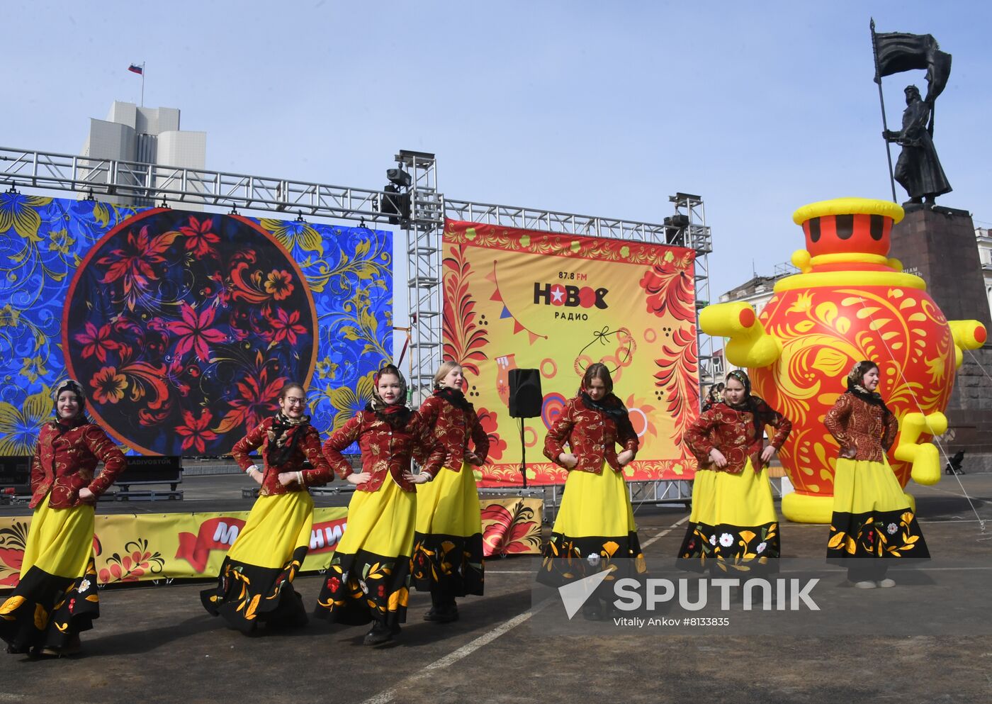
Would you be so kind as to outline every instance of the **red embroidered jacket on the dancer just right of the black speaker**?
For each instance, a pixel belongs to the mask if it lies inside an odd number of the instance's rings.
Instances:
[[[603,462],[614,472],[620,471],[620,463],[617,462],[617,443],[620,443],[624,450],[630,450],[635,455],[640,446],[637,434],[629,424],[625,424],[623,429],[618,429],[616,421],[608,413],[589,408],[582,401],[581,396],[568,399],[555,425],[545,436],[545,457],[558,467],[564,467],[558,461],[558,455],[564,453],[565,442],[578,461],[572,470],[591,472],[595,475],[602,473]]]

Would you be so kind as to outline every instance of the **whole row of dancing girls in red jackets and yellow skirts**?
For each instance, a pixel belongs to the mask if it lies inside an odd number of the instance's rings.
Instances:
[[[907,541],[913,543],[913,557],[929,556],[909,499],[886,462],[898,424],[875,390],[878,382],[877,364],[855,365],[847,392],[824,421],[840,446],[827,557],[845,565],[848,579],[862,589],[895,584],[885,575],[885,563],[860,558],[901,555],[885,549],[897,531],[913,538]],[[279,394],[279,412],[232,450],[260,485],[259,497],[224,559],[217,585],[201,593],[206,611],[245,633],[263,623],[269,629],[307,623],[308,609],[293,582],[310,544],[308,488],[337,474],[355,485],[355,493],[315,615],[346,625],[370,624],[364,642],[383,643],[406,622],[413,586],[431,592],[425,620],[456,620],[456,598],[483,592],[472,468],[485,463],[489,441],[462,394],[458,364],[441,364],[434,389],[420,410],[411,410],[402,373],[392,364],[383,366],[373,400],[321,448],[304,413],[306,390],[287,384]],[[8,652],[70,654],[79,648],[79,634],[99,616],[93,506],[126,462],[86,417],[77,382],[62,382],[54,396],[56,417],[43,426],[32,458],[34,513],[20,582],[0,602],[0,637]],[[766,426],[775,429],[767,447]],[[682,566],[775,569],[779,523],[765,468],[791,428],[787,418],[751,394],[743,371],[732,371],[722,395],[708,400],[683,437],[699,469],[679,551]],[[341,455],[353,442],[361,450],[359,472]],[[261,467],[249,458],[256,449]],[[637,450],[637,434],[613,393],[609,369],[590,364],[545,439],[545,455],[568,477],[539,581],[557,586],[622,566],[634,574],[647,572],[622,472]],[[412,473],[412,459],[421,465],[419,474]],[[310,469],[304,469],[305,462]],[[94,477],[98,463],[103,471]],[[586,618],[599,619],[608,609],[605,585],[586,601]]]

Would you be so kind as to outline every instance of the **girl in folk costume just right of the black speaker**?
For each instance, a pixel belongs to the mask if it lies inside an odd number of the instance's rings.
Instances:
[[[565,452],[564,444],[569,451]],[[616,445],[623,450],[618,454]],[[613,394],[605,364],[589,364],[578,394],[568,399],[545,437],[545,456],[568,470],[552,537],[545,546],[538,581],[557,587],[593,572],[614,573],[605,581],[644,574],[634,511],[621,470],[637,454],[637,433],[623,402]],[[605,584],[583,605],[585,618],[602,616]]]

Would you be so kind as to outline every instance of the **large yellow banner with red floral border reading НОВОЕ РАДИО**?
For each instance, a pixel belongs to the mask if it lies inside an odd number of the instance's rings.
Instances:
[[[541,417],[524,421],[528,481],[564,482],[542,455],[545,434],[595,361],[641,442],[627,479],[692,477],[681,443],[699,408],[691,249],[447,220],[442,256],[444,358],[464,367],[491,441],[482,486],[521,484],[515,368],[541,373]]]

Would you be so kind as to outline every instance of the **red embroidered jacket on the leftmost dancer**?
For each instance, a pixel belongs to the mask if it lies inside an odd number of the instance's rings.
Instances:
[[[69,430],[64,428],[58,421],[50,421],[38,434],[38,448],[31,458],[31,508],[50,491],[50,508],[81,505],[80,489],[85,487],[99,496],[127,466],[124,455],[100,426],[84,423]],[[93,479],[100,462],[103,471]]]

